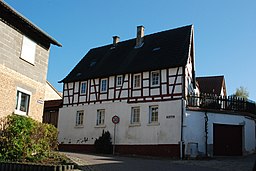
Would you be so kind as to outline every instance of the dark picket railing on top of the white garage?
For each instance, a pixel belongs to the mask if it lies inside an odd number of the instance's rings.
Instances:
[[[212,94],[190,95],[187,98],[187,106],[202,109],[247,112],[256,115],[255,102],[235,96],[226,97]]]

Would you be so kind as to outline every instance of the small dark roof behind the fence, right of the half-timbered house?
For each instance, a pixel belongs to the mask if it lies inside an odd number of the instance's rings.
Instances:
[[[197,77],[201,93],[221,95],[222,87],[226,96],[226,85],[224,76]]]

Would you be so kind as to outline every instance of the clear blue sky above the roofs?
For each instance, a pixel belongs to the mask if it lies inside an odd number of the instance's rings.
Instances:
[[[63,47],[51,47],[48,80],[62,80],[94,47],[193,24],[197,76],[224,75],[228,94],[244,86],[256,100],[255,0],[5,0]]]

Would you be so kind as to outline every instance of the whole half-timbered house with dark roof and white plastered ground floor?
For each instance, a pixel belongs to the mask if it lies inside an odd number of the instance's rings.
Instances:
[[[64,78],[60,147],[89,150],[103,130],[116,152],[179,155],[183,99],[193,91],[193,26],[91,49]]]

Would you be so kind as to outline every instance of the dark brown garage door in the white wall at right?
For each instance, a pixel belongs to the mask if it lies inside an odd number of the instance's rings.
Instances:
[[[242,125],[213,124],[213,154],[242,155]]]

